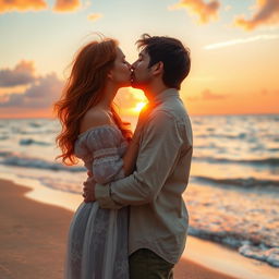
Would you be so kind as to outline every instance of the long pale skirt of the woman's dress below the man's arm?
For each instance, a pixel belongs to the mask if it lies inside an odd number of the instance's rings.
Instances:
[[[65,279],[129,279],[128,215],[128,207],[80,205],[69,230]]]

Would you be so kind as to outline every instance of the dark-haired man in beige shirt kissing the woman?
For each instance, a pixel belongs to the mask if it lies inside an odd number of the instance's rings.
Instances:
[[[169,37],[143,35],[133,63],[132,85],[149,100],[140,126],[135,171],[107,185],[85,182],[85,202],[102,208],[131,205],[130,278],[173,278],[184,246],[187,210],[182,197],[189,182],[193,140],[179,89],[190,72],[190,52]]]

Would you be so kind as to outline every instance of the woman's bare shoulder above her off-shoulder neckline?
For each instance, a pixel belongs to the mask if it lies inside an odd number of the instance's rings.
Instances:
[[[99,108],[89,109],[82,119],[80,133],[84,133],[93,128],[109,124],[111,124],[111,120],[106,111]]]

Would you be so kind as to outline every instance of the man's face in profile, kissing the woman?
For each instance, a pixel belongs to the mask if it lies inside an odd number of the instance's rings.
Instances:
[[[138,59],[132,64],[131,84],[134,88],[145,89],[151,81],[151,71],[148,68],[150,58],[145,50],[138,54]]]

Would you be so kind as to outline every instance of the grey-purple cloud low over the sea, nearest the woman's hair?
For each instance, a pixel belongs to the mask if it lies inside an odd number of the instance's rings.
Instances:
[[[54,73],[38,77],[23,94],[10,93],[0,98],[2,108],[49,108],[61,94],[63,82]]]

